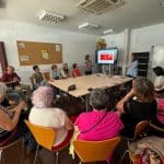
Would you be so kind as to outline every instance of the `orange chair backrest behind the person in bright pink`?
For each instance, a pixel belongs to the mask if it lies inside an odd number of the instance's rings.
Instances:
[[[74,151],[82,162],[105,161],[120,141],[119,137],[104,141],[74,140]]]

